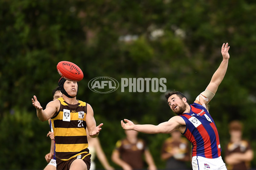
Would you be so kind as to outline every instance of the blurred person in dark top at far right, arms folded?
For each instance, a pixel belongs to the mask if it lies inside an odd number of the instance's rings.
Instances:
[[[230,142],[226,146],[225,161],[228,170],[249,170],[253,159],[250,142],[242,139],[243,125],[235,120],[230,122]]]

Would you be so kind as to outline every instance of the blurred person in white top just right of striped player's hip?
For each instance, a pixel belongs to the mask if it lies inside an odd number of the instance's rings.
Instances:
[[[86,128],[86,133],[89,134],[87,128]],[[92,138],[90,135],[87,136],[88,140],[88,149],[90,150],[91,156],[91,165],[90,165],[90,170],[95,170],[96,169],[96,164],[94,162],[95,156],[99,159],[100,163],[104,167],[105,170],[114,170],[113,167],[108,163],[108,159],[106,158],[105,153],[102,150],[99,138]]]

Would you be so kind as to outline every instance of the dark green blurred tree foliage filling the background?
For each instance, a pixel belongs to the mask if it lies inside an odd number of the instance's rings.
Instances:
[[[164,93],[121,92],[119,87],[97,94],[88,88],[90,79],[108,76],[120,83],[164,77],[168,90],[183,92],[192,103],[218,68],[223,42],[231,46],[230,64],[210,113],[222,148],[232,119],[246,124],[244,137],[253,142],[255,11],[252,0],[0,0],[0,169],[46,165],[48,125],[37,119],[31,98],[36,95],[43,107],[52,100],[59,61],[83,70],[78,98],[92,105],[97,124],[104,123],[99,138],[110,160],[116,141],[125,136],[121,119],[157,125],[174,114]],[[140,137],[157,167],[164,168],[159,149],[168,135]]]

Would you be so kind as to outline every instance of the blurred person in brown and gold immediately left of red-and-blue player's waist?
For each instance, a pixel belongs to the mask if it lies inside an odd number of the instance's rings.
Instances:
[[[186,162],[191,161],[191,144],[181,136],[178,130],[170,133],[161,150],[161,159],[166,160],[166,169],[188,169]]]

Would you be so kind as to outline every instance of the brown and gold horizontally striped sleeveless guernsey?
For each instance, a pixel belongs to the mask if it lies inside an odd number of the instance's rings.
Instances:
[[[90,155],[85,130],[87,104],[79,100],[78,104],[70,105],[62,97],[58,100],[61,103],[60,110],[51,118],[55,137],[55,157],[68,161],[81,153]]]

